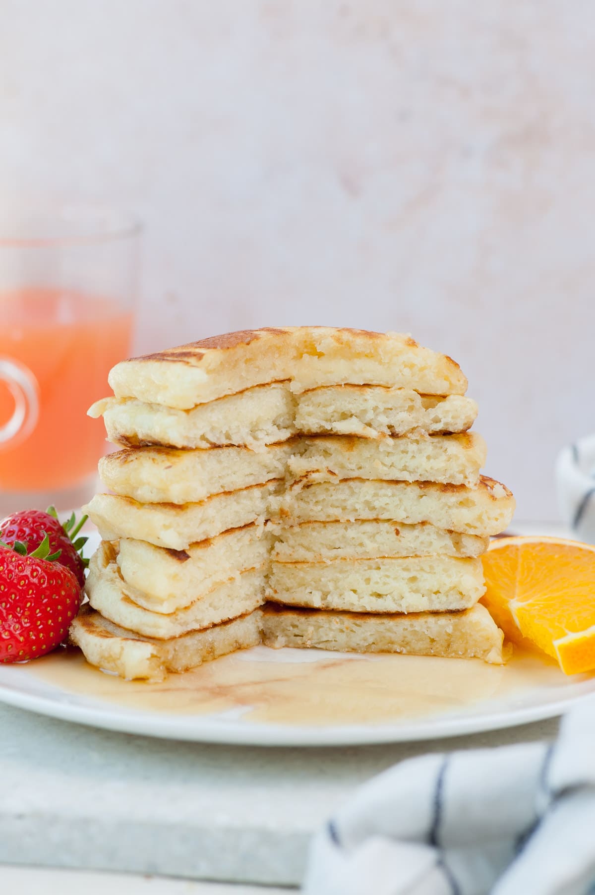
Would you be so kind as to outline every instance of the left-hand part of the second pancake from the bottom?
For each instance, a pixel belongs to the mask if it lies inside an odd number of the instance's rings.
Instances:
[[[164,614],[143,606],[144,595],[126,584],[116,563],[115,550],[104,544],[89,563],[86,592],[91,606],[116,625],[143,636],[167,640],[257,609],[264,602],[264,569],[249,569],[235,575],[209,591],[202,590],[200,599],[182,609]]]

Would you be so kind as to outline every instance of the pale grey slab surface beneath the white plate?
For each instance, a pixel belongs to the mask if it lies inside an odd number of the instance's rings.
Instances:
[[[314,831],[412,755],[553,737],[557,720],[393,746],[169,742],[0,706],[0,863],[298,884]]]

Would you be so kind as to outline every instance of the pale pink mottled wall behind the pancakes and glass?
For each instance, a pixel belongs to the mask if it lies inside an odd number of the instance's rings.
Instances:
[[[138,349],[411,331],[555,518],[595,429],[589,0],[3,0],[0,198],[136,209]]]

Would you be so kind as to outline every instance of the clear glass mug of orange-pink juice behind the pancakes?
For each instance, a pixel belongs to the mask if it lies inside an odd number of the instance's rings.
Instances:
[[[105,209],[0,217],[0,515],[78,507],[102,427],[86,415],[130,352],[140,225]]]

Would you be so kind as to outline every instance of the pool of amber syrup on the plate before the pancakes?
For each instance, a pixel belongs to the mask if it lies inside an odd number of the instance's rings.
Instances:
[[[357,655],[256,647],[149,684],[90,666],[60,650],[22,666],[44,684],[136,712],[217,715],[292,726],[422,720],[510,700],[532,688],[562,691],[567,678],[548,657],[516,651],[506,665],[381,653]]]

